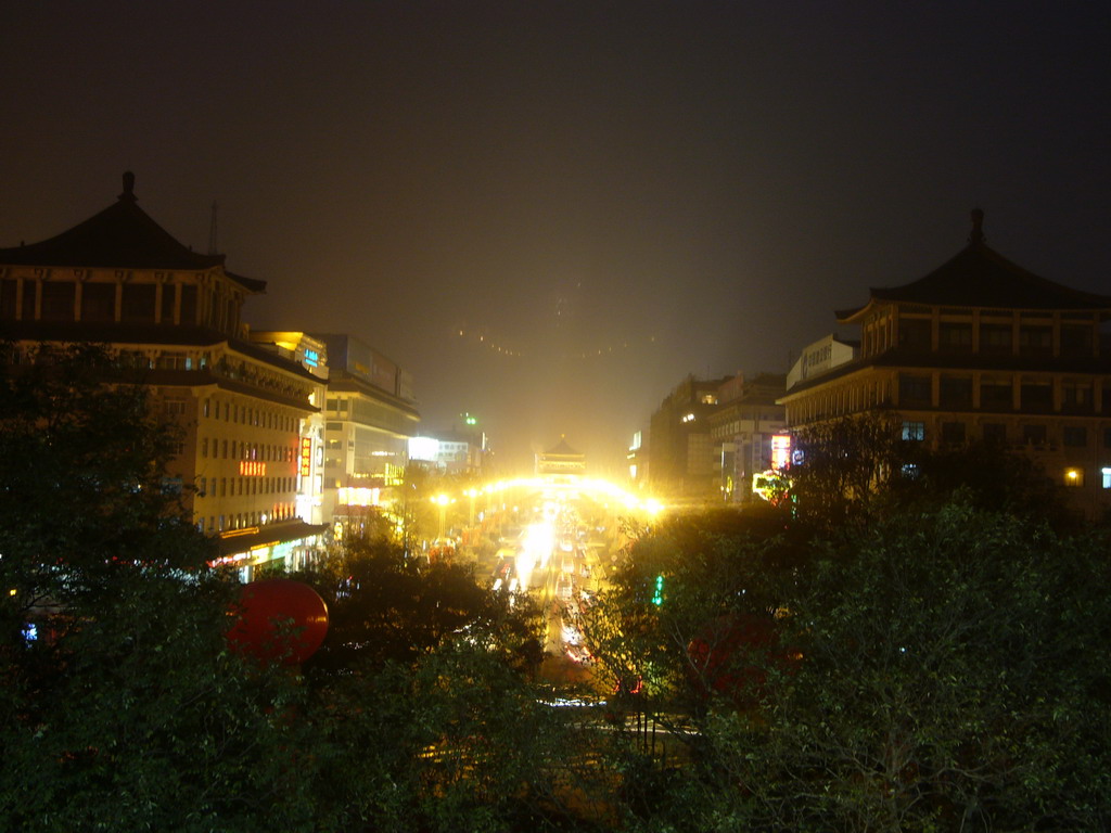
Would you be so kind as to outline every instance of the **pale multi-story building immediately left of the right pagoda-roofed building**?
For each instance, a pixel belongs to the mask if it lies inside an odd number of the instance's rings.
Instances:
[[[718,389],[719,408],[707,421],[720,459],[719,489],[727,503],[752,499],[752,478],[772,465],[772,438],[787,428],[777,400],[787,389],[782,373],[738,373]]]

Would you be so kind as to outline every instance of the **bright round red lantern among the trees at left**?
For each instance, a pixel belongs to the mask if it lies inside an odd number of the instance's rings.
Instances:
[[[263,662],[299,665],[328,633],[324,600],[308,584],[290,579],[244,584],[236,613],[239,619],[228,631],[228,644]]]

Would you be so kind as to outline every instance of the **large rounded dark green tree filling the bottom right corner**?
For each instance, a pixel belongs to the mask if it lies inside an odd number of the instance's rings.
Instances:
[[[722,714],[715,770],[779,830],[1102,830],[1105,541],[967,500],[893,518],[805,576],[801,660]],[[720,783],[720,781],[719,781]]]

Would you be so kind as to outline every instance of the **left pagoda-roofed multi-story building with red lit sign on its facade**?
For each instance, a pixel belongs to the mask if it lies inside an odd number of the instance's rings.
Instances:
[[[186,505],[248,573],[271,559],[303,562],[323,532],[298,514],[319,379],[248,339],[242,307],[264,289],[154,222],[130,173],[116,203],[84,222],[0,249],[0,338],[24,354],[104,343],[140,369],[153,407],[183,430],[171,474],[196,486]]]

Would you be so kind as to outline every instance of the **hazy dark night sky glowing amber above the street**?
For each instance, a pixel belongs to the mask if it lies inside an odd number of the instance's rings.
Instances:
[[[507,463],[565,433],[615,465],[685,374],[785,372],[973,207],[1111,291],[1105,9],[8,2],[0,247],[133,170],[196,249],[219,203],[256,328],[362,338]]]

